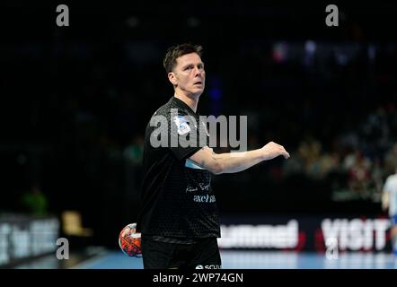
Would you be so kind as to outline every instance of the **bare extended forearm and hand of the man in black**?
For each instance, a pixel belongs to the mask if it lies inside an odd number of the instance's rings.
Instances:
[[[214,174],[234,173],[251,168],[260,161],[269,161],[278,155],[289,158],[289,153],[282,145],[270,142],[260,149],[250,152],[227,152],[217,154],[205,146],[190,157],[203,169]]]

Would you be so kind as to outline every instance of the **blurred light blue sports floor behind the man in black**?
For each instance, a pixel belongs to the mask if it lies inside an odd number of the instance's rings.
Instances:
[[[328,259],[317,253],[222,250],[221,257],[223,269],[397,269],[397,257],[380,253],[340,253],[337,259]],[[72,268],[142,269],[143,265],[142,258],[110,251]]]

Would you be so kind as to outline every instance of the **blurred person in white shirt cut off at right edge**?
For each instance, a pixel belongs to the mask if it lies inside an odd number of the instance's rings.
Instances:
[[[397,167],[395,173],[386,178],[383,188],[382,208],[389,210],[392,223],[391,238],[393,254],[397,256]]]

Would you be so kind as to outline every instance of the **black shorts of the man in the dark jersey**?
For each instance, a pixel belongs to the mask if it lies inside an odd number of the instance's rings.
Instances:
[[[142,238],[145,269],[219,269],[221,257],[216,238],[199,239],[198,243],[166,243]]]

